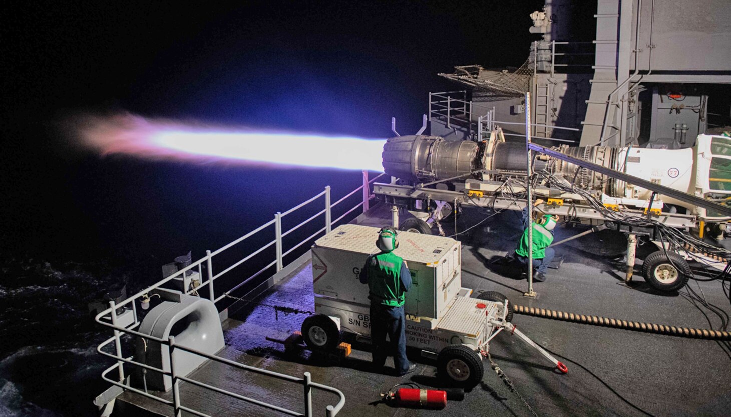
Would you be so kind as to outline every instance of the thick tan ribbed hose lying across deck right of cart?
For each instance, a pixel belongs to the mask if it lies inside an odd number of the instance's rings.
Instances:
[[[591,326],[611,327],[613,329],[632,330],[633,332],[664,334],[666,336],[689,337],[692,339],[731,340],[731,333],[719,332],[717,330],[689,329],[687,327],[665,326],[664,324],[639,323],[637,321],[617,320],[615,318],[597,317],[596,315],[564,313],[562,311],[525,307],[523,305],[513,305],[512,310],[515,313],[532,315],[533,317],[550,318],[551,320],[568,321],[569,323],[588,324]]]

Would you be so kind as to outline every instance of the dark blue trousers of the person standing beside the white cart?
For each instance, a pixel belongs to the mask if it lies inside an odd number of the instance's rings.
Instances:
[[[371,304],[371,343],[374,367],[383,367],[386,356],[393,356],[397,374],[409,370],[406,359],[406,318],[404,307]],[[390,343],[386,342],[386,334]]]

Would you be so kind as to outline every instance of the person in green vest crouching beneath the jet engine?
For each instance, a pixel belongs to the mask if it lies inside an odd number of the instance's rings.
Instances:
[[[542,199],[537,199],[534,207],[543,204]],[[523,236],[520,237],[518,242],[518,249],[515,250],[515,255],[518,256],[518,261],[523,264],[523,267],[528,269],[528,207],[523,209]],[[553,256],[556,253],[552,248],[549,248],[550,244],[553,243],[553,229],[556,228],[558,223],[558,217],[554,215],[540,215],[532,223],[533,227],[533,268],[537,269],[533,275],[534,282],[542,283],[546,280],[546,272],[548,272],[548,265],[550,261],[553,261]]]

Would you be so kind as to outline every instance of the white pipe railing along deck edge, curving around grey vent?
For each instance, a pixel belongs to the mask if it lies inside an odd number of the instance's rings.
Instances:
[[[151,291],[156,290],[157,288],[162,288],[167,283],[170,283],[171,281],[175,280],[175,278],[183,278],[188,271],[192,271],[193,269],[197,269],[199,272],[199,276],[202,279],[203,277],[203,268],[205,264],[205,272],[207,272],[207,280],[205,282],[201,283],[200,286],[197,288],[192,288],[189,291],[186,291],[186,294],[191,294],[194,291],[200,291],[202,288],[208,287],[208,298],[211,299],[211,302],[214,304],[221,302],[222,299],[227,298],[227,296],[232,292],[236,291],[237,289],[241,288],[242,286],[245,286],[248,283],[251,283],[253,280],[255,280],[257,277],[262,275],[264,272],[266,272],[271,267],[274,267],[276,265],[276,272],[280,272],[282,269],[284,269],[284,258],[288,256],[291,253],[294,253],[295,250],[300,248],[302,245],[306,244],[307,242],[311,242],[315,237],[317,237],[319,234],[322,234],[323,232],[329,233],[333,226],[336,225],[338,222],[342,221],[344,218],[346,218],[347,215],[353,213],[355,210],[358,210],[359,208],[363,207],[363,213],[365,213],[368,208],[369,204],[368,201],[371,198],[371,188],[370,185],[374,183],[376,179],[381,177],[384,174],[377,175],[372,180],[368,180],[368,172],[363,171],[363,185],[360,185],[360,187],[356,188],[355,190],[351,191],[349,194],[344,196],[343,198],[339,199],[337,202],[332,203],[330,202],[330,187],[325,187],[325,191],[322,191],[322,193],[317,194],[316,196],[312,197],[311,199],[308,199],[306,202],[303,202],[302,204],[299,204],[296,207],[292,207],[292,209],[287,210],[284,213],[276,213],[274,216],[274,219],[272,221],[269,221],[268,223],[265,223],[264,225],[258,227],[257,229],[254,229],[253,231],[245,234],[243,237],[238,238],[237,240],[234,240],[233,242],[230,242],[228,245],[225,245],[224,247],[220,248],[219,250],[215,250],[211,252],[211,250],[207,250],[205,257],[202,259],[199,259],[198,261],[193,262],[188,267],[185,267],[181,269],[178,272],[175,272],[173,275],[170,275],[167,278],[164,278],[163,280],[159,281],[158,283],[155,283],[154,285],[145,288],[143,291],[140,291],[139,293],[133,295],[132,297],[129,297],[128,299],[124,300],[123,302],[119,304],[115,304],[115,302],[111,301],[109,303],[110,307],[103,311],[102,313],[99,313],[96,315],[96,323],[101,324],[102,326],[109,327],[110,329],[113,329],[114,335],[113,337],[110,337],[109,339],[105,340],[103,343],[101,343],[97,348],[96,351],[103,355],[107,356],[111,359],[115,359],[117,361],[116,364],[112,365],[111,367],[107,368],[104,372],[102,372],[102,379],[107,381],[108,383],[111,383],[114,386],[117,386],[121,388],[124,391],[131,391],[135,394],[142,395],[143,397],[147,397],[148,399],[151,399],[156,402],[161,402],[164,405],[169,405],[171,408],[173,408],[174,416],[180,416],[182,411],[185,411],[186,413],[194,414],[195,416],[202,416],[202,417],[211,417],[208,416],[205,413],[202,413],[198,410],[193,410],[191,408],[187,408],[183,405],[181,405],[181,393],[180,393],[180,382],[184,381],[186,383],[190,383],[195,386],[199,386],[203,389],[208,389],[210,391],[227,395],[228,397],[232,397],[235,399],[239,399],[243,402],[249,402],[254,405],[259,405],[262,408],[268,408],[269,410],[275,410],[280,413],[287,414],[288,416],[306,416],[311,417],[312,414],[312,396],[311,396],[311,390],[314,389],[320,389],[322,391],[327,391],[332,394],[336,394],[338,396],[338,403],[336,405],[328,405],[325,410],[325,415],[327,417],[333,417],[338,414],[338,412],[343,408],[345,405],[345,396],[342,393],[342,391],[335,389],[330,386],[325,386],[319,383],[314,383],[311,380],[311,376],[309,372],[305,372],[303,375],[303,378],[294,377],[291,375],[285,375],[278,372],[271,372],[268,370],[262,370],[260,368],[256,367],[250,367],[244,364],[240,364],[235,361],[230,361],[228,359],[221,358],[219,356],[210,355],[208,353],[196,351],[191,348],[186,348],[184,346],[175,344],[175,337],[170,337],[167,340],[160,339],[158,337],[152,337],[148,334],[143,334],[140,332],[135,331],[137,327],[140,326],[140,321],[137,320],[137,302],[141,302],[143,299],[148,297],[148,294],[151,293]],[[354,196],[355,194],[358,194],[360,191],[362,191],[363,201],[359,202],[355,205],[355,207],[352,207],[351,209],[347,210],[346,213],[338,217],[335,221],[332,221],[332,210],[333,207],[337,207],[339,204],[346,201],[346,199],[349,199],[350,197]],[[287,232],[282,231],[282,225],[281,220],[287,215],[290,215],[292,213],[295,213],[298,210],[303,209],[304,207],[308,206],[308,204],[312,204],[319,199],[322,199],[324,197],[325,204],[324,209],[320,210],[317,214],[313,215],[311,218],[308,218],[306,221],[303,221],[302,223],[298,224],[297,226],[292,227],[292,229],[289,229]],[[289,250],[284,251],[284,237],[287,237],[289,234],[292,234],[292,232],[295,232],[296,230],[302,228],[303,226],[306,226],[308,223],[311,223],[311,221],[314,221],[316,218],[319,218],[320,216],[325,215],[325,226],[322,227],[322,229],[317,230],[317,232],[314,232],[314,234],[311,234],[306,239],[302,240],[296,245],[293,245],[292,248],[289,248]],[[236,245],[239,245],[241,242],[244,242],[245,240],[253,237],[254,235],[264,231],[265,229],[268,229],[270,227],[274,227],[274,236],[275,239],[268,244],[262,246],[261,248],[255,250],[253,253],[249,254],[248,256],[245,256],[243,259],[240,259],[240,261],[236,261],[234,264],[230,265],[229,267],[225,269],[221,269],[221,272],[214,273],[213,272],[213,258],[221,253],[224,253],[227,250],[230,250],[231,248],[235,247]],[[242,264],[244,264],[246,261],[249,261],[253,259],[255,256],[260,255],[264,250],[274,246],[276,250],[276,256],[273,261],[271,261],[270,264],[268,264],[263,269],[260,269],[260,271],[254,273],[251,275],[251,277],[246,278],[246,280],[243,280],[241,283],[238,283],[238,285],[234,286],[233,288],[230,288],[228,291],[221,293],[219,297],[216,297],[216,292],[214,291],[213,283],[218,280],[221,277],[224,277],[228,273],[230,273],[233,269],[240,267]],[[197,294],[197,293],[196,293]],[[129,324],[129,326],[121,326],[118,324],[118,314],[117,312],[121,309],[124,309],[125,307],[131,307],[132,308],[132,324]],[[160,368],[151,367],[147,364],[143,364],[140,362],[137,362],[133,359],[133,356],[124,357],[122,353],[122,346],[121,346],[121,337],[123,334],[129,334],[133,337],[140,337],[143,340],[146,340],[147,343],[150,341],[160,343],[161,345],[167,345],[170,348],[170,355],[168,356],[170,358],[170,371],[165,371]],[[114,343],[114,351],[115,353],[108,353],[105,352],[104,349],[108,346]],[[259,375],[265,375],[270,378],[276,378],[279,380],[285,380],[291,383],[295,383],[298,385],[303,386],[304,391],[304,413],[298,413],[293,410],[287,410],[285,408],[278,407],[276,405],[271,405],[267,402],[262,402],[257,399],[245,397],[240,394],[235,394],[233,392],[227,391],[225,389],[220,389],[215,386],[208,385],[206,383],[202,383],[197,380],[192,380],[190,378],[183,377],[181,375],[177,375],[175,373],[175,359],[173,356],[173,351],[175,349],[179,349],[181,351],[185,351],[188,353],[192,353],[197,356],[202,356],[206,359],[210,359],[211,361],[216,361],[220,364],[225,364],[230,367],[237,368],[239,370],[248,371],[248,372],[254,372]],[[141,367],[144,370],[148,370],[151,372],[158,372],[164,376],[170,377],[173,381],[173,401],[169,401],[167,399],[157,397],[154,394],[150,394],[148,392],[145,392],[140,389],[133,388],[132,386],[129,386],[128,383],[126,383],[126,372],[124,370],[124,365],[129,365],[133,367]],[[114,370],[117,370],[118,378],[117,380],[113,380],[108,375],[110,372],[113,372]]]

